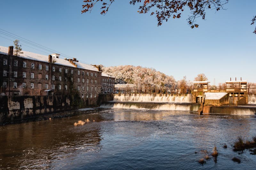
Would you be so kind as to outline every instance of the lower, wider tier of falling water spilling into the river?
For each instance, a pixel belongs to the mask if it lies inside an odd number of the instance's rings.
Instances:
[[[200,104],[196,103],[159,103],[159,102],[105,102],[100,107],[123,109],[153,109],[153,110],[184,110],[197,111]]]

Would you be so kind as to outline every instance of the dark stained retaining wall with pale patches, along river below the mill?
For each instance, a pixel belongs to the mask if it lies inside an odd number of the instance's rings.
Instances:
[[[0,122],[76,109],[70,96],[0,96]]]

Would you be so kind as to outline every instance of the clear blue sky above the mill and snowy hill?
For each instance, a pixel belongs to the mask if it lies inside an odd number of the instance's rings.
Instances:
[[[0,28],[89,64],[153,67],[176,80],[204,73],[212,83],[215,78],[216,85],[230,77],[256,82],[256,25],[250,25],[256,15],[254,0],[232,0],[227,10],[207,11],[196,29],[187,25],[188,13],[157,27],[154,16],[138,14],[138,6],[129,0],[116,0],[105,16],[100,15],[100,4],[90,14],[81,14],[82,4],[5,0]],[[0,46],[12,44],[0,37]]]

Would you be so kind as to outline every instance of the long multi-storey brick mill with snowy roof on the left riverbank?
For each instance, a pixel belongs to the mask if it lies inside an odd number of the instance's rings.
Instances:
[[[14,56],[12,46],[0,48],[2,96],[78,92],[86,104],[96,104],[99,93],[114,89],[115,78],[102,73],[100,66],[84,64],[76,58],[61,59],[60,54],[45,56],[23,51],[20,56]]]

